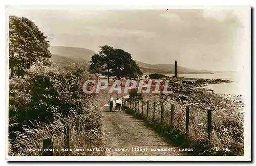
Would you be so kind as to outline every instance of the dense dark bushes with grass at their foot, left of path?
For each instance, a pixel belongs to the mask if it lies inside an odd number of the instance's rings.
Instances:
[[[91,76],[84,65],[63,70],[42,62],[32,65],[23,79],[10,79],[9,155],[40,155],[26,149],[40,149],[48,136],[55,148],[63,148],[66,125],[71,128],[73,147],[101,145],[100,109],[95,96],[82,91],[87,79]]]

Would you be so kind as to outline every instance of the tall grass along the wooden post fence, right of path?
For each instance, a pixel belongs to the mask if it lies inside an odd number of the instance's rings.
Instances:
[[[175,146],[182,148],[194,148],[193,155],[243,155],[244,152],[244,115],[236,105],[221,97],[215,97],[215,106],[205,103],[182,104],[173,100],[156,100],[156,114],[153,119],[153,102],[148,105],[148,117],[146,117],[146,104],[142,114],[142,102],[140,110],[123,107],[127,113],[141,118],[148,126],[153,127],[160,134],[172,139]],[[164,102],[164,121],[161,124],[161,102]],[[174,103],[174,127],[170,127],[171,104]],[[224,104],[223,104],[224,103]],[[189,131],[185,130],[186,106],[189,106]],[[137,106],[138,109],[138,106]],[[207,110],[212,110],[211,138],[207,138]],[[220,150],[216,151],[214,148]],[[229,148],[229,151],[222,151]]]

